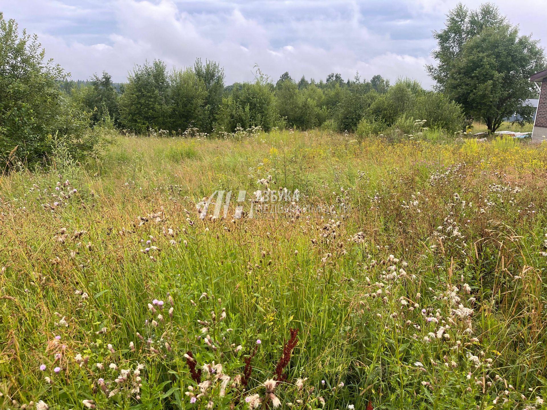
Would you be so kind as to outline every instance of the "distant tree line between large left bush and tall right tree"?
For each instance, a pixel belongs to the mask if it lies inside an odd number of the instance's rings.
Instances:
[[[183,132],[193,127],[207,133],[238,128],[327,126],[355,132],[359,122],[381,132],[401,118],[419,118],[447,132],[463,126],[461,108],[442,93],[427,91],[410,79],[395,84],[375,75],[370,80],[295,81],[288,72],[274,83],[259,68],[255,80],[225,84],[223,68],[199,58],[191,67],[168,70],[159,60],[136,65],[117,92],[107,72],[87,84],[71,87],[69,96],[92,112],[94,123],[112,121],[136,133],[149,130]]]

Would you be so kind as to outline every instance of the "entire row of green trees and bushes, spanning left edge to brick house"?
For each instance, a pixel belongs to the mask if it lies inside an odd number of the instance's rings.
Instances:
[[[450,11],[434,32],[436,65],[426,69],[436,81],[424,90],[415,80],[390,84],[381,75],[344,80],[277,81],[255,67],[253,81],[225,83],[218,62],[197,58],[193,66],[167,68],[160,60],[135,65],[123,84],[103,72],[89,80],[69,74],[45,52],[36,35],[19,33],[0,13],[0,158],[6,165],[32,165],[62,151],[75,160],[94,155],[105,127],[137,134],[189,128],[211,136],[260,128],[324,127],[360,137],[398,131],[410,134],[416,120],[447,134],[482,120],[491,132],[517,113],[529,122],[533,96],[528,77],[545,68],[537,40],[492,4]]]

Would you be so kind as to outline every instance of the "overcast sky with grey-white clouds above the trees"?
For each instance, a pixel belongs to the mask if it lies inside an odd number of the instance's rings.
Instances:
[[[522,34],[547,45],[547,0],[494,1]],[[277,79],[288,71],[319,80],[356,71],[429,87],[424,65],[452,0],[3,0],[5,18],[37,33],[46,55],[88,79],[103,70],[125,81],[135,63],[168,67],[196,57],[220,62],[226,83],[252,80],[253,66]],[[480,0],[464,1],[476,8]]]

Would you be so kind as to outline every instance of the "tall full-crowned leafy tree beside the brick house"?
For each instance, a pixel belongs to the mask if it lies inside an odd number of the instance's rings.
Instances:
[[[478,10],[458,4],[433,37],[437,65],[427,66],[429,75],[468,117],[484,120],[491,132],[514,113],[531,121],[532,108],[523,104],[533,95],[529,76],[545,67],[537,40],[520,36],[490,3]]]

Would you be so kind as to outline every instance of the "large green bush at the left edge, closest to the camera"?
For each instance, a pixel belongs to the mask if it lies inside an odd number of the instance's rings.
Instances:
[[[0,162],[35,166],[62,144],[74,159],[94,152],[100,141],[89,115],[65,96],[57,81],[67,74],[45,52],[36,35],[19,36],[14,20],[0,13]]]

